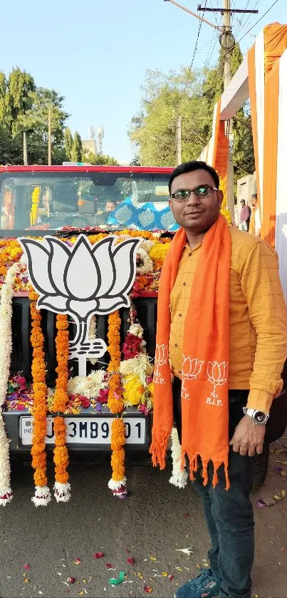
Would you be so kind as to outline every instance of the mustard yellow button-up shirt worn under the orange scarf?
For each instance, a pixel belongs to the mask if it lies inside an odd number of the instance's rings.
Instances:
[[[229,388],[249,390],[248,407],[268,413],[273,396],[281,391],[287,356],[286,304],[278,258],[261,239],[234,227],[229,231]],[[202,244],[184,247],[170,294],[169,358],[172,373],[179,378],[184,324],[188,326],[185,319],[201,248]]]

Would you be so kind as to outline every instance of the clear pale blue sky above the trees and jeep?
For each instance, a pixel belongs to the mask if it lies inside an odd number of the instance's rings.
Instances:
[[[199,0],[177,0],[197,14]],[[243,53],[268,23],[287,23],[287,1],[231,0],[231,8],[258,9],[259,14],[232,17]],[[223,0],[202,0],[221,7]],[[219,24],[221,15],[207,12]],[[251,31],[247,33],[250,29]],[[140,110],[145,71],[179,70],[192,61],[199,21],[164,0],[14,0],[1,6],[0,70],[14,66],[31,73],[37,86],[65,97],[72,133],[88,139],[89,127],[104,128],[103,153],[120,164],[135,154],[127,130]],[[219,42],[214,29],[202,25],[194,68],[216,63]]]

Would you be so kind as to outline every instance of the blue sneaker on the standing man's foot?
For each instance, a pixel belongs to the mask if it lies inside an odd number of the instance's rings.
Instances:
[[[201,573],[189,582],[180,586],[174,598],[216,598],[219,596],[220,581],[212,573],[212,569],[200,569]]]

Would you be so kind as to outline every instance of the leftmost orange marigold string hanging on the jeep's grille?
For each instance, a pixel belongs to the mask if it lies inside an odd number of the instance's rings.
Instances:
[[[46,416],[47,416],[47,386],[46,364],[43,351],[44,337],[41,329],[41,311],[36,309],[38,295],[31,289],[29,292],[31,312],[31,345],[33,347],[32,378],[33,378],[33,435],[32,435],[32,467],[34,472],[35,496],[32,501],[36,507],[48,505],[51,492],[47,485],[46,476]]]

